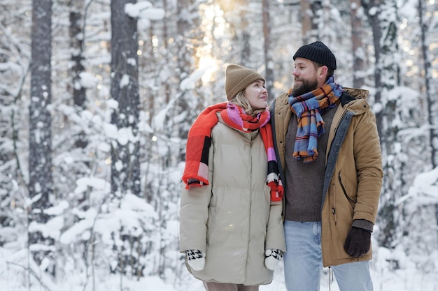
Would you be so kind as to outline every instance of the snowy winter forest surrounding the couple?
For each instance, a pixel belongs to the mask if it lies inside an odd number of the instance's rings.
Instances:
[[[0,285],[203,290],[178,253],[188,130],[235,63],[292,86],[322,40],[370,92],[374,290],[438,290],[437,0],[1,0]],[[321,290],[336,290],[327,270]],[[270,285],[285,290],[282,265]]]

